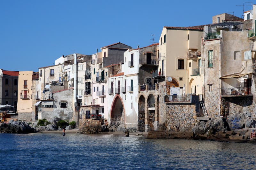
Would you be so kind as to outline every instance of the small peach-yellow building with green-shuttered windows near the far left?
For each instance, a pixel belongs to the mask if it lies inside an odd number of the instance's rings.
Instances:
[[[38,72],[20,71],[18,82],[18,120],[34,120],[35,112],[32,110],[35,103],[32,97],[33,80],[38,79]]]

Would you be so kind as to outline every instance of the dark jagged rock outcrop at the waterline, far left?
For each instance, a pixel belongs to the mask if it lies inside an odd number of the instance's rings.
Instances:
[[[34,128],[30,127],[27,122],[13,121],[9,123],[0,123],[1,133],[33,133],[36,132]]]

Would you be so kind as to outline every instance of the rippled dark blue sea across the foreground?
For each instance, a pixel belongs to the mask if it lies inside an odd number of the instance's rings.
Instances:
[[[256,145],[67,133],[0,134],[0,169],[255,169]]]

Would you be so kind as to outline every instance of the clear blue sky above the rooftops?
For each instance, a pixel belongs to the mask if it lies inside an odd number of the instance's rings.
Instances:
[[[245,1],[247,2],[247,1]],[[159,41],[163,26],[212,23],[243,15],[244,1],[0,0],[0,68],[38,71],[62,55],[93,54],[116,42],[133,48]],[[244,6],[250,10],[250,3]]]

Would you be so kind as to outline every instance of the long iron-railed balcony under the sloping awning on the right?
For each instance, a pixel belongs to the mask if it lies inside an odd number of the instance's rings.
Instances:
[[[223,97],[252,96],[252,87],[221,88]]]

